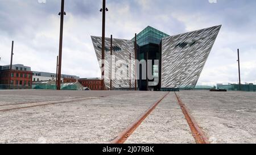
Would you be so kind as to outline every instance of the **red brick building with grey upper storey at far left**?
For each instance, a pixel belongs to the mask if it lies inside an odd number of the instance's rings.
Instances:
[[[32,72],[31,68],[24,65],[1,66],[0,85],[2,89],[31,89]]]

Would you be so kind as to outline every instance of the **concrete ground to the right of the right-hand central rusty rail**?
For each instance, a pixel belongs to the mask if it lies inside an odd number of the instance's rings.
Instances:
[[[256,93],[180,91],[177,93],[210,143],[256,143]]]

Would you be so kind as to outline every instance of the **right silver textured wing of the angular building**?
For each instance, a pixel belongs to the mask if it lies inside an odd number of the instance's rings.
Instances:
[[[195,88],[220,28],[162,39],[162,88]]]

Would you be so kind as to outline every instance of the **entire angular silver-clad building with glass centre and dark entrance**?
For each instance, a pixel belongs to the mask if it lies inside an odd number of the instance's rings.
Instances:
[[[134,88],[135,80],[113,78],[113,73],[116,77],[122,77],[121,74],[126,74],[132,79],[136,77],[138,90],[194,89],[220,28],[221,26],[214,26],[171,36],[148,26],[138,33],[136,45],[135,38],[113,39],[112,56],[110,55],[110,38],[106,38],[105,77],[112,77],[112,88],[116,90],[129,89],[130,86]],[[102,51],[101,39],[101,37],[92,36],[99,63]],[[135,60],[135,57],[139,63],[130,61],[130,59]],[[118,60],[126,63],[115,64]],[[146,69],[143,68],[142,62],[145,62]],[[120,68],[126,68],[127,72],[117,72]],[[110,78],[105,78],[104,83],[105,88],[110,89]]]

